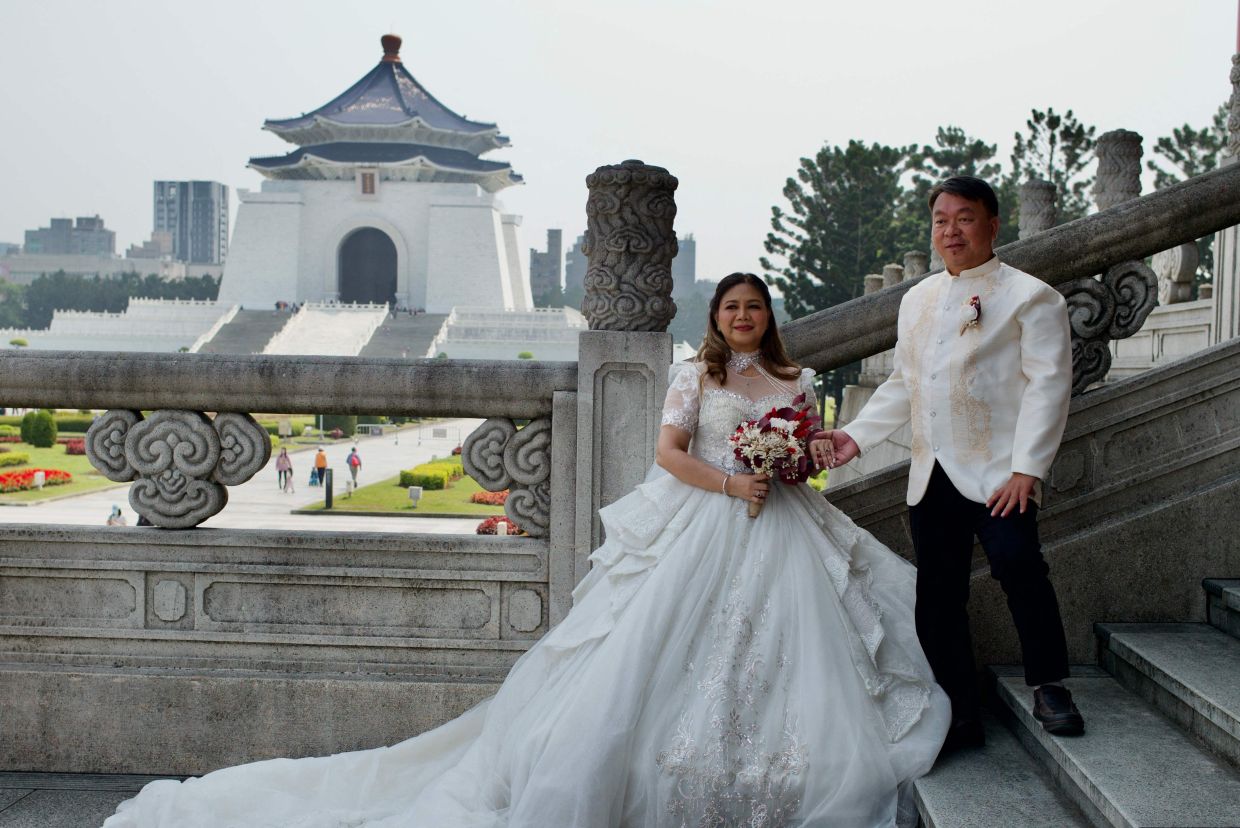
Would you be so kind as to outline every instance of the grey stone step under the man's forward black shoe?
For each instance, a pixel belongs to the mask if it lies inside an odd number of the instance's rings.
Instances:
[[[1085,735],[1056,738],[1033,718],[1019,668],[992,668],[998,709],[1024,747],[1096,826],[1236,828],[1240,772],[1095,667],[1065,684]],[[1001,823],[1002,824],[1002,823]]]

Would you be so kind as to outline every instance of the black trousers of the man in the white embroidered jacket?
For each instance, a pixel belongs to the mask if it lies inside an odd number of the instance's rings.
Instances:
[[[1017,507],[1019,509],[1019,507]],[[968,635],[968,575],[973,538],[982,543],[991,575],[1007,594],[1030,687],[1068,677],[1068,645],[1055,588],[1038,542],[1038,507],[991,517],[966,498],[935,464],[925,497],[909,507],[918,555],[918,638],[935,679],[951,698],[956,719],[977,715],[977,672]]]

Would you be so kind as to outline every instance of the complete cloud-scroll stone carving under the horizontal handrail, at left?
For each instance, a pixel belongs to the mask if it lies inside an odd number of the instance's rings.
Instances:
[[[108,480],[136,481],[129,504],[154,526],[190,529],[267,465],[272,439],[249,414],[110,410],[86,433],[86,454]]]

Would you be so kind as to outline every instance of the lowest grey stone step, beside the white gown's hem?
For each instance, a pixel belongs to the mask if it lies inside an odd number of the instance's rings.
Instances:
[[[925,828],[1085,828],[1091,823],[992,714],[986,747],[940,760],[914,783]]]

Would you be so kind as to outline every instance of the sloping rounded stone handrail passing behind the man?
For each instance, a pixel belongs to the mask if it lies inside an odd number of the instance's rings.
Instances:
[[[997,253],[1059,285],[1235,224],[1240,224],[1240,164],[1004,244]],[[789,322],[782,327],[789,353],[823,372],[887,351],[895,345],[900,300],[918,281],[910,279]]]

